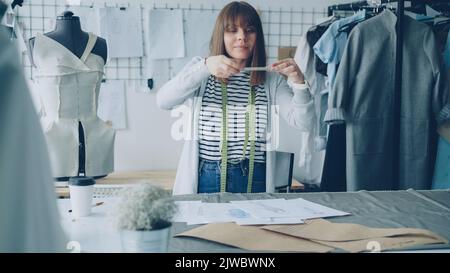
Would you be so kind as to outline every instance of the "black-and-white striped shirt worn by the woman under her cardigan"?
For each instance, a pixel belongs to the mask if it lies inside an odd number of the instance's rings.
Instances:
[[[245,140],[245,113],[250,93],[250,73],[241,72],[228,79],[228,161],[242,159]],[[255,162],[265,162],[264,146],[266,143],[267,97],[264,85],[255,86],[256,141]],[[214,76],[208,78],[200,110],[199,138],[200,158],[221,160],[220,139],[222,124],[222,89],[221,83]],[[250,132],[247,143],[246,158],[250,157]]]

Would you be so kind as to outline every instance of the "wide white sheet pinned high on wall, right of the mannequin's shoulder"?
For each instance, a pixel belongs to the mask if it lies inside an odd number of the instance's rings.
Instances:
[[[140,8],[101,8],[100,35],[108,42],[111,58],[142,57]]]

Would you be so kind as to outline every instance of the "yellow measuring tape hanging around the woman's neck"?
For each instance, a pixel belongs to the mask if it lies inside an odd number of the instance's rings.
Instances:
[[[225,83],[221,84],[222,89],[222,145],[221,156],[222,164],[220,168],[220,192],[225,192],[227,188],[227,164],[228,164],[228,94]],[[242,148],[242,160],[245,159],[247,151],[249,132],[250,132],[250,158],[248,170],[247,192],[252,192],[253,171],[255,168],[255,140],[256,140],[256,107],[255,107],[255,89],[250,85],[250,92],[248,94],[247,110],[245,111],[245,139],[244,147]]]

